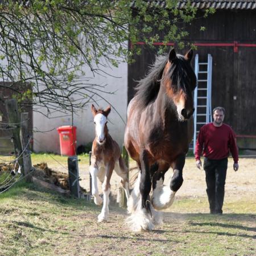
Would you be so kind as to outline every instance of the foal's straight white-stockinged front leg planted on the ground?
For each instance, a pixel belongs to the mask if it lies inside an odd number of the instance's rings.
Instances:
[[[114,170],[114,161],[111,161],[106,165],[106,173],[105,173],[105,177],[104,177],[104,182],[102,183],[103,206],[101,209],[101,213],[98,215],[98,222],[108,220],[110,179],[111,179],[113,170]]]

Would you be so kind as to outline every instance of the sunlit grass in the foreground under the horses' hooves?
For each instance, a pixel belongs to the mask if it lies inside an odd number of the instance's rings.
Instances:
[[[179,198],[165,224],[133,233],[124,209],[98,224],[100,207],[20,182],[0,195],[0,255],[255,255],[255,203],[219,216],[199,213],[203,198]]]

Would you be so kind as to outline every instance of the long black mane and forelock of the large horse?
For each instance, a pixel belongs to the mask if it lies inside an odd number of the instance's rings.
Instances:
[[[139,105],[142,108],[146,107],[158,96],[164,67],[167,62],[168,55],[156,57],[155,64],[150,68],[148,75],[139,81],[139,84],[135,88],[137,90],[136,96],[139,98]],[[189,88],[188,83],[192,82],[188,81],[188,77],[196,80],[188,61],[185,61],[182,55],[176,55],[175,60],[172,61],[170,70],[163,79],[171,79],[172,84],[176,85],[177,89],[183,89],[186,92]]]

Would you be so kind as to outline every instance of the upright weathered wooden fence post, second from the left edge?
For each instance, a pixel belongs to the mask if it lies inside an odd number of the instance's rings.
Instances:
[[[20,114],[20,139],[22,142],[23,149],[23,164],[24,164],[24,175],[26,176],[26,181],[32,181],[32,175],[30,172],[32,171],[32,162],[30,156],[30,133],[28,132],[28,113]]]

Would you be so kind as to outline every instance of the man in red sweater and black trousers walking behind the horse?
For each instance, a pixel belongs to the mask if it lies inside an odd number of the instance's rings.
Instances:
[[[228,156],[231,152],[234,171],[238,170],[236,134],[224,121],[225,109],[213,109],[213,122],[201,127],[196,141],[196,166],[201,169],[203,151],[205,180],[210,213],[222,214]]]

